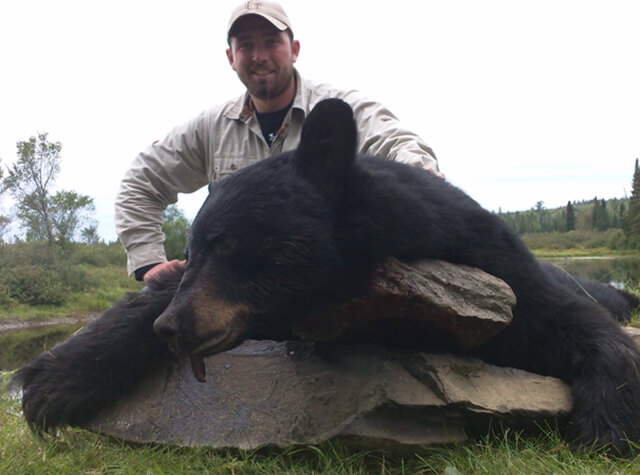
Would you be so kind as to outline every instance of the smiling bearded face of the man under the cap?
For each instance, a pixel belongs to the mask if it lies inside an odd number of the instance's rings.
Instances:
[[[240,18],[230,40],[229,63],[252,96],[269,100],[287,90],[300,50],[297,40],[257,15]]]

